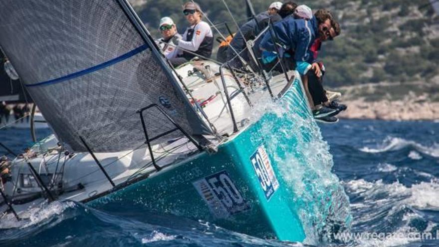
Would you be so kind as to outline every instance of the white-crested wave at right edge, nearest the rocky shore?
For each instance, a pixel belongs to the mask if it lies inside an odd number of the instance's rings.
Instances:
[[[429,155],[435,158],[439,158],[439,145],[437,143],[435,143],[431,147],[427,147],[415,141],[410,141],[399,137],[387,137],[383,141],[383,143],[379,145],[379,147],[377,148],[363,147],[360,149],[360,151],[365,153],[384,153],[389,151],[398,151],[405,148],[411,148],[424,155]],[[420,157],[419,153],[411,153],[409,154],[409,157],[415,160],[419,160],[420,158],[422,158]]]

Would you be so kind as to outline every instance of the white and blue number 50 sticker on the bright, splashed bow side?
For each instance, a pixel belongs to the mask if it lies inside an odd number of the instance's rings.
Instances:
[[[264,191],[265,198],[270,200],[274,192],[279,188],[279,182],[276,179],[270,159],[263,145],[254,152],[250,157],[250,161],[260,186]]]

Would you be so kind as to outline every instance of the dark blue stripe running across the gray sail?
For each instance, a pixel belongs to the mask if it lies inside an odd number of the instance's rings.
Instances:
[[[86,74],[95,72],[97,70],[100,70],[100,69],[106,68],[108,66],[111,66],[111,65],[113,65],[115,63],[118,63],[118,62],[121,62],[123,60],[126,60],[126,59],[128,59],[128,58],[130,58],[130,57],[132,57],[132,56],[134,56],[136,54],[139,54],[140,52],[146,50],[147,48],[148,48],[148,46],[146,44],[143,44],[143,45],[141,45],[141,46],[139,46],[139,47],[137,47],[137,48],[135,48],[135,49],[133,49],[133,50],[123,54],[123,55],[120,55],[120,56],[118,56],[116,58],[113,58],[113,59],[111,59],[109,61],[106,61],[106,62],[103,62],[101,64],[95,65],[93,67],[86,68],[86,69],[80,70],[78,72],[74,72],[74,73],[71,73],[71,74],[68,74],[68,75],[56,78],[56,79],[52,79],[52,80],[48,80],[48,81],[42,81],[42,82],[38,82],[38,83],[35,83],[35,84],[26,85],[26,87],[36,87],[36,86],[43,86],[43,85],[46,86],[46,85],[51,85],[51,84],[60,83],[60,82],[67,81],[67,80],[71,80],[71,79],[74,79],[76,77],[79,77],[79,76],[82,76],[82,75],[86,75]]]

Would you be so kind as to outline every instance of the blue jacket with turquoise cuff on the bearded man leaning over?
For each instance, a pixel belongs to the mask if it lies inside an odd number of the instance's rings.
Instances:
[[[315,16],[311,20],[286,17],[275,23],[273,29],[271,34],[267,32],[264,35],[260,43],[260,49],[265,51],[264,56],[267,56],[267,52],[280,52],[282,56],[285,51],[294,50],[293,59],[296,62],[296,69],[300,74],[306,74],[311,68],[311,64],[315,62],[313,54],[309,52],[318,35],[318,24]],[[276,40],[277,47],[273,43],[271,35]]]

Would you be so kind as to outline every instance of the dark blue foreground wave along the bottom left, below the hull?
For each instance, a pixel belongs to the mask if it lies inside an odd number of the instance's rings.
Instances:
[[[70,201],[53,202],[34,213],[35,217],[25,222],[16,223],[13,219],[2,219],[1,247],[303,246],[258,239],[209,222],[170,215],[154,214],[149,215],[154,219],[149,219],[148,222],[139,221],[138,217],[133,218],[129,214],[112,214]],[[149,223],[150,221],[155,223]]]

